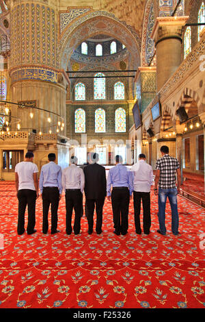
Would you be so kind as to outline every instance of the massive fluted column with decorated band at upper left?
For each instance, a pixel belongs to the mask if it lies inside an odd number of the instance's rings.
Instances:
[[[57,9],[56,1],[10,0],[10,76],[12,101],[34,101],[64,119],[66,134],[66,73],[57,69]],[[21,120],[21,128],[36,132],[56,130],[57,117],[31,109],[13,106],[13,114]],[[51,123],[47,122],[51,117]]]

